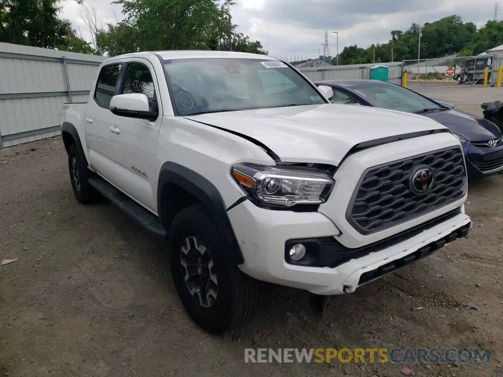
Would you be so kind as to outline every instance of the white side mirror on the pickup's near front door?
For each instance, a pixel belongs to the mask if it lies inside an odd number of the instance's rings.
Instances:
[[[148,119],[154,121],[158,112],[150,111],[148,97],[142,93],[128,93],[112,97],[109,106],[112,114],[120,117]]]

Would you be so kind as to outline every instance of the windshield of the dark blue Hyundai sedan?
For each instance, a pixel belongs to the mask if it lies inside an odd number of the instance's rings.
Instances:
[[[445,110],[435,102],[398,85],[372,83],[353,86],[352,89],[365,97],[373,106],[382,109],[407,113],[416,113],[425,109]]]

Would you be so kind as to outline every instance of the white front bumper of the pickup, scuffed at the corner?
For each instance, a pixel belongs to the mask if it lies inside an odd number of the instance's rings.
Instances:
[[[419,234],[356,256],[336,267],[313,267],[286,261],[285,243],[291,239],[332,237],[340,230],[319,212],[271,211],[245,201],[228,212],[244,263],[240,269],[259,280],[307,290],[318,295],[354,292],[359,286],[410,264],[471,231],[463,208],[458,215]]]

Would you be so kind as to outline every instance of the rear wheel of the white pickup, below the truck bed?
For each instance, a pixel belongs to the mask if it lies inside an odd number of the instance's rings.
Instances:
[[[73,194],[77,201],[82,204],[97,202],[100,195],[88,182],[91,177],[91,170],[80,158],[80,153],[75,144],[70,145],[68,148],[68,170]]]

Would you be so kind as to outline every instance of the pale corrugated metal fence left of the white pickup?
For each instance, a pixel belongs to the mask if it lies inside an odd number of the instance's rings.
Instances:
[[[0,43],[0,149],[60,134],[63,103],[87,101],[104,59]]]

